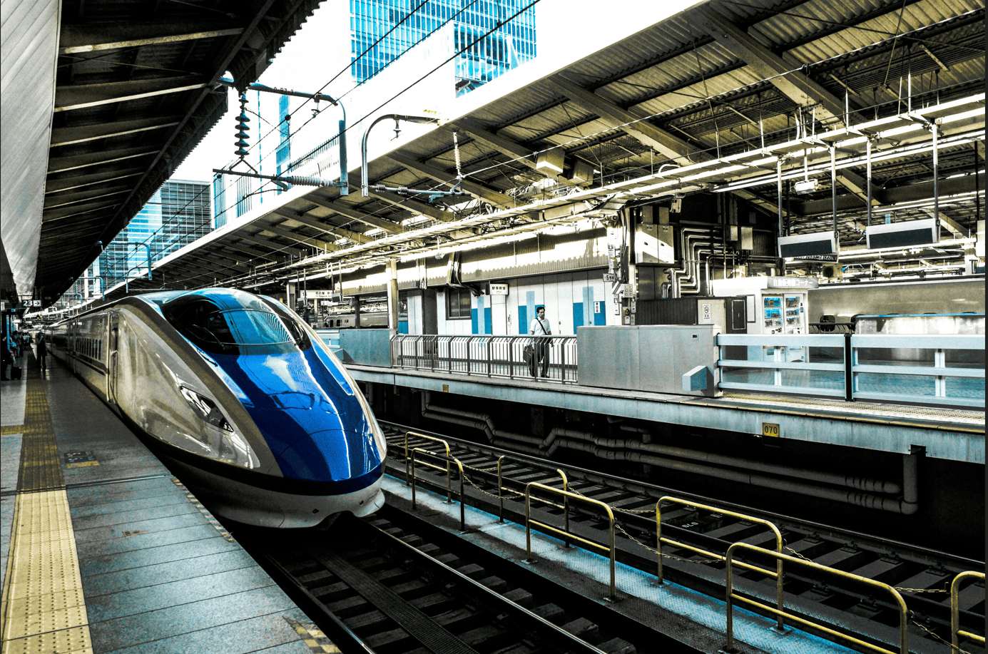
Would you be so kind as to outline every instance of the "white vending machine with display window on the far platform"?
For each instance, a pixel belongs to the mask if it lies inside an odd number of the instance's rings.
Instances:
[[[743,277],[713,280],[716,295],[744,297],[748,304],[748,334],[808,334],[809,289],[819,286],[811,277]],[[786,347],[787,361],[805,361],[802,348]],[[765,359],[765,351],[750,348],[749,361]]]

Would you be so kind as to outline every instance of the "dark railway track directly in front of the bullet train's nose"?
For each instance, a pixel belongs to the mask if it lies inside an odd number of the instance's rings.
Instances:
[[[288,546],[280,532],[240,538],[346,654],[644,654],[669,640],[629,624],[617,624],[618,636],[599,607],[393,508]]]

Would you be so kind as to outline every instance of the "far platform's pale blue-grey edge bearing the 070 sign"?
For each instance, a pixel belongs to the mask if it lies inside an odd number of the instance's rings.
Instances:
[[[447,370],[355,364],[348,364],[347,369],[358,381],[427,391],[437,398],[461,395],[898,454],[921,447],[931,458],[985,462],[984,412],[966,407],[742,392],[698,397]]]

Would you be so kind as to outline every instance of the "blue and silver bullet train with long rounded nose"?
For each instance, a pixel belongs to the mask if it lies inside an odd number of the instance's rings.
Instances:
[[[386,443],[371,408],[278,301],[154,292],[46,333],[50,352],[219,516],[302,528],[383,505]]]

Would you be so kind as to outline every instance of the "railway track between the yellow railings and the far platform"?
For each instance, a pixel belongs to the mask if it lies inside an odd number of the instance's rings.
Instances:
[[[381,426],[390,444],[388,472],[404,478],[405,434],[409,428],[384,422]],[[524,524],[522,494],[526,484],[535,481],[561,488],[564,475],[568,491],[607,503],[614,511],[617,560],[657,574],[656,502],[661,497],[680,498],[682,502],[670,502],[662,510],[663,579],[717,599],[723,599],[725,593],[726,573],[722,554],[732,543],[739,541],[777,549],[777,535],[765,525],[772,523],[782,537],[783,554],[896,589],[907,609],[905,618],[908,620],[911,651],[931,654],[958,650],[970,654],[984,652],[983,644],[970,638],[961,637],[956,648],[951,646],[951,601],[948,592],[958,574],[965,571],[983,574],[984,563],[981,561],[860,532],[793,520],[696,495],[680,495],[673,489],[559,465],[440,434],[419,433],[431,439],[411,437],[408,440],[409,448],[417,449],[422,459],[426,457],[423,450],[443,453],[442,446],[434,439],[444,439],[451,448],[450,455],[463,465],[465,503],[495,515],[502,512],[505,520]],[[499,457],[504,457],[500,464],[500,486],[504,490],[500,496],[496,473]],[[455,466],[452,469],[448,476],[443,469],[417,467],[416,481],[419,486],[431,487],[444,495],[450,493],[453,499],[458,499],[458,473]],[[710,508],[703,508],[704,505]],[[563,514],[561,507],[543,506],[540,511],[556,517]],[[574,534],[596,542],[607,541],[606,525],[601,521],[599,512],[586,511],[571,504],[565,513],[569,529]],[[775,567],[774,561],[768,557],[760,558],[757,554],[750,562],[770,570]],[[787,561],[785,566],[782,595],[786,611],[816,622],[823,620],[836,631],[862,639],[872,646],[898,651],[902,612],[890,596],[875,592],[848,575],[821,575],[811,566],[801,566],[795,562]],[[772,577],[750,569],[742,569],[740,574],[735,569],[733,577],[733,586],[741,595],[765,604],[775,603],[778,587]],[[959,588],[956,603],[961,630],[983,636],[983,578]],[[862,651],[867,651],[867,647],[864,646]]]

